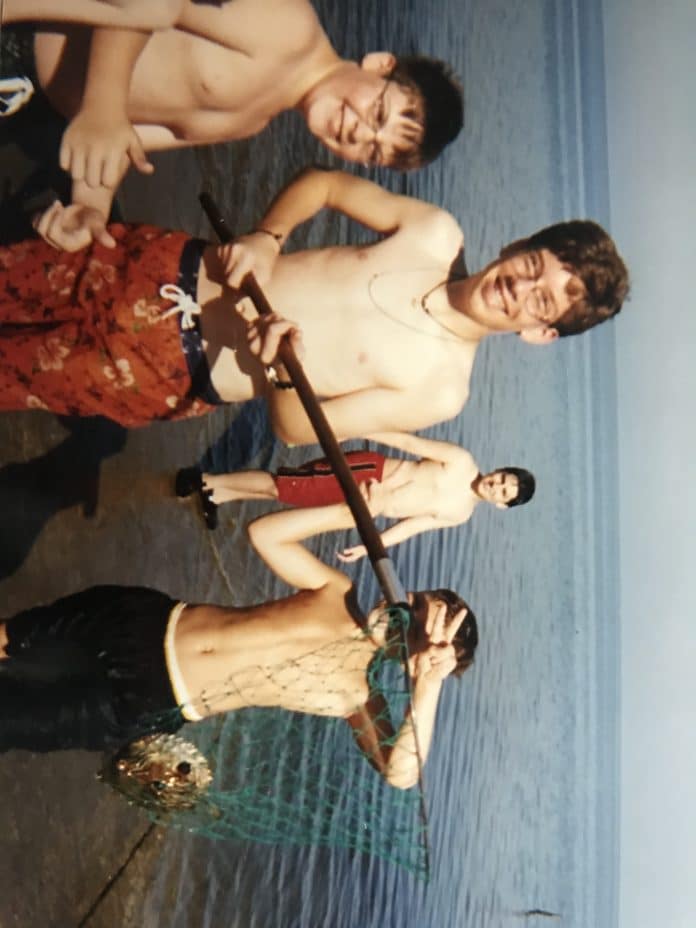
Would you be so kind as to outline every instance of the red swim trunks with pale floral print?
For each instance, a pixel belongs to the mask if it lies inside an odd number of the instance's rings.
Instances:
[[[109,231],[115,248],[0,248],[0,409],[139,426],[213,408],[192,396],[179,318],[160,295],[176,284],[190,236],[145,225]]]

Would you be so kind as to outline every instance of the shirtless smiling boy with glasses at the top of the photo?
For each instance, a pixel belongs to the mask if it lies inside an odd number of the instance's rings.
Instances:
[[[87,24],[132,16],[133,29],[142,30],[148,19],[149,28],[166,25],[166,5],[160,0],[149,16],[146,3],[56,7],[59,18]],[[335,154],[399,169],[432,160],[461,128],[461,93],[442,63],[399,61],[389,52],[346,61],[309,0],[179,6],[175,28],[152,35],[113,28],[92,35],[55,22],[35,33],[34,25],[3,30],[8,62],[0,73],[31,81],[56,110],[75,117],[61,167],[75,181],[73,202],[105,217],[129,161],[152,170],[145,151],[248,138],[283,110],[296,110]],[[171,18],[171,6],[165,12]],[[5,0],[4,18],[56,16],[46,0]]]

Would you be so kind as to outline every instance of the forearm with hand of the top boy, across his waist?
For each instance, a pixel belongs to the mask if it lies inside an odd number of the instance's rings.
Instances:
[[[148,39],[147,32],[124,29],[92,33],[82,104],[60,147],[60,166],[74,181],[113,190],[124,159],[144,174],[154,170],[127,113],[131,75]]]

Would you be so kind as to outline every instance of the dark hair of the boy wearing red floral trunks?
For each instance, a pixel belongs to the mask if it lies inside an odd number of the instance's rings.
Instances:
[[[628,296],[628,270],[600,225],[588,219],[559,222],[507,245],[501,256],[540,248],[548,248],[585,285],[586,295],[553,324],[559,335],[585,332],[619,312]]]

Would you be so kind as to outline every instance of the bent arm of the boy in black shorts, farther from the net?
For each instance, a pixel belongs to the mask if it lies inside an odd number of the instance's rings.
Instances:
[[[290,586],[318,590],[331,583],[348,590],[350,578],[330,567],[302,544],[306,538],[335,528],[336,506],[284,509],[255,519],[249,540],[271,570]],[[342,507],[348,510],[347,506]]]

